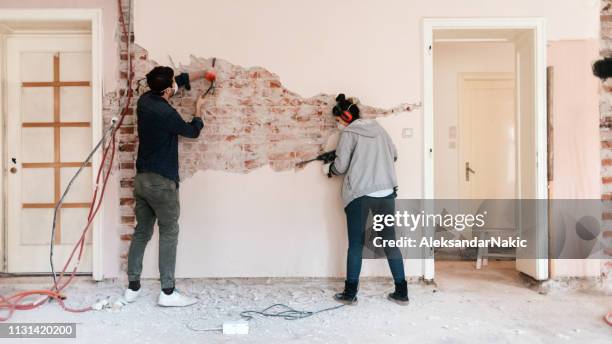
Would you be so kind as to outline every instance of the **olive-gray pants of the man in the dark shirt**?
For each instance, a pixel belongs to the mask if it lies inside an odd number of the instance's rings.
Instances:
[[[161,287],[173,288],[180,213],[177,183],[156,173],[138,173],[134,184],[137,224],[128,253],[128,280],[140,280],[142,258],[157,220]]]

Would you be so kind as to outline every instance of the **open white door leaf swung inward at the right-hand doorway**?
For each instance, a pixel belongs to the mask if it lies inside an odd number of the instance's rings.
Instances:
[[[536,280],[548,278],[548,225],[543,202],[546,199],[546,89],[539,73],[546,73],[544,51],[536,51],[536,32],[530,30],[515,39],[518,119],[519,235],[529,247],[517,249],[516,269]],[[543,48],[540,50],[544,50]],[[524,257],[524,258],[521,258]]]

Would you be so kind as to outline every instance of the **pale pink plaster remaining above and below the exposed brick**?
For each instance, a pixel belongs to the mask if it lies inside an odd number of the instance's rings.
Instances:
[[[267,68],[303,96],[344,91],[383,107],[421,100],[421,19],[450,16],[541,16],[550,39],[585,39],[597,37],[599,2],[135,1],[136,42],[160,63],[218,56]],[[400,152],[400,197],[421,196],[421,117],[383,120]],[[415,135],[401,138],[404,127]],[[339,183],[316,164],[298,173],[199,172],[182,183],[181,201],[178,276],[344,274]],[[371,263],[364,275],[388,275],[384,262]],[[407,269],[418,275],[420,263]]]

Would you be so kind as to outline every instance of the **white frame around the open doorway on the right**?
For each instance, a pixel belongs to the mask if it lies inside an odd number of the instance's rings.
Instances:
[[[545,18],[423,19],[423,198],[434,199],[433,33],[440,29],[529,29],[535,37],[536,198],[548,198]],[[517,104],[518,106],[518,104]],[[433,252],[424,252],[426,257]],[[536,270],[548,277],[548,259],[536,259]],[[434,259],[423,259],[423,277],[435,275]]]

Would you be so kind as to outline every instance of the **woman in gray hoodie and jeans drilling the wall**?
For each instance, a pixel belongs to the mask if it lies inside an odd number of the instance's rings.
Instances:
[[[394,162],[397,149],[383,127],[371,119],[360,119],[359,108],[344,94],[336,98],[333,108],[338,127],[342,130],[336,148],[336,159],[323,165],[328,176],[344,175],[342,199],[348,227],[348,252],[344,291],[335,295],[342,303],[357,301],[359,274],[368,214],[395,214],[397,178]],[[395,229],[386,227],[380,232],[384,239],[393,239]],[[397,247],[385,247],[395,292],[389,299],[408,303],[408,286],[404,276],[404,262]]]

